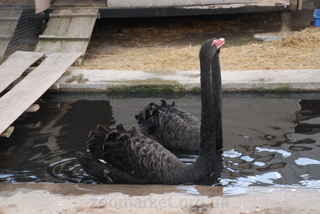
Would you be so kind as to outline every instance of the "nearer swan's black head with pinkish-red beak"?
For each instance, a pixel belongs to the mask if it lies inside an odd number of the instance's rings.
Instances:
[[[225,39],[220,38],[220,39],[209,39],[205,41],[200,48],[199,56],[206,56],[212,58],[216,53],[220,52],[220,47],[225,44]]]

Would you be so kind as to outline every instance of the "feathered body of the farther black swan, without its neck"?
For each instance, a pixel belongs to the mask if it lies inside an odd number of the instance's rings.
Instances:
[[[136,115],[141,133],[166,148],[199,151],[200,121],[175,102],[149,103]]]

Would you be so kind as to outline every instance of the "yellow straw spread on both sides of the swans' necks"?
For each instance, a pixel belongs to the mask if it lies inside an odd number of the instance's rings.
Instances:
[[[222,70],[320,69],[320,29],[307,28],[278,41],[228,46],[220,52]],[[80,69],[199,70],[200,45],[115,47],[112,54],[85,58]]]

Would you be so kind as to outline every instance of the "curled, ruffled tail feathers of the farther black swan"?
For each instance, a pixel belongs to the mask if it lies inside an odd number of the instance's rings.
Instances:
[[[149,103],[145,105],[139,114],[135,115],[136,120],[143,135],[148,135],[150,128],[157,126],[159,112],[169,111],[171,108],[176,107],[175,102],[168,104],[165,100],[161,100],[161,104]]]

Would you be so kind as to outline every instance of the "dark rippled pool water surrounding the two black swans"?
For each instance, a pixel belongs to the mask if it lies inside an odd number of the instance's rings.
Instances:
[[[40,110],[22,115],[10,138],[0,139],[0,182],[107,183],[86,175],[75,153],[86,151],[97,124],[137,126],[134,114],[160,99],[200,118],[197,93],[45,94]],[[320,187],[320,94],[225,93],[223,134],[213,175],[189,184]],[[172,152],[187,163],[197,158]]]

